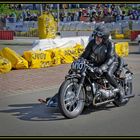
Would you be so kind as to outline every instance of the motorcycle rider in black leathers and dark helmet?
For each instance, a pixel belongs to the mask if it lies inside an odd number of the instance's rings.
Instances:
[[[118,55],[113,43],[109,40],[109,32],[103,26],[98,26],[93,32],[90,40],[80,58],[93,62],[95,72],[104,74],[105,78],[114,87],[113,92],[119,94],[119,100],[123,102],[124,92],[122,86],[118,85],[114,78],[114,72],[118,68]]]

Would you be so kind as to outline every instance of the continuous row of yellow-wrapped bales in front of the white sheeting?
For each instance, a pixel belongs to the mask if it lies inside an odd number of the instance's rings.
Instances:
[[[46,51],[25,51],[23,57],[28,61],[30,68],[45,68],[72,63],[78,59],[84,47],[77,44],[74,47],[54,48]]]

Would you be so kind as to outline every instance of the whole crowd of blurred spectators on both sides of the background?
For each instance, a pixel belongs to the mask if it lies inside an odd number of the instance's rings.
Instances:
[[[34,13],[30,9],[25,9],[23,4],[10,4],[9,9],[21,10],[21,14],[12,12],[10,15],[1,16],[1,21],[18,22],[18,21],[37,21],[39,14]],[[36,10],[36,5],[33,4],[33,9]],[[125,8],[124,8],[125,9]],[[51,8],[52,10],[52,8]],[[57,19],[57,11],[52,14]],[[91,4],[87,8],[75,8],[73,10],[61,9],[59,15],[60,21],[86,21],[86,22],[117,22],[119,20],[139,20],[140,9],[123,10],[123,7],[116,4]]]

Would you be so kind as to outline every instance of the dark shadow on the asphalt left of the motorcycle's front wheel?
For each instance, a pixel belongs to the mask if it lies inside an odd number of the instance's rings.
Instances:
[[[45,104],[13,104],[9,109],[0,110],[0,113],[12,113],[20,120],[25,121],[55,121],[64,120],[58,108],[49,108]]]

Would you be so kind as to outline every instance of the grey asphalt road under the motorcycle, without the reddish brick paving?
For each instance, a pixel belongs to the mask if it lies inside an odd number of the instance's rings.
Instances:
[[[37,101],[52,97],[59,84],[26,94],[11,94],[0,98],[0,136],[140,136],[139,60],[139,54],[126,58],[134,72],[135,94],[127,105],[90,108],[75,119],[65,119],[58,108],[47,108]],[[55,67],[53,69],[57,72]]]

